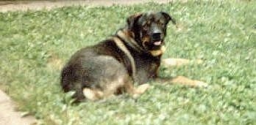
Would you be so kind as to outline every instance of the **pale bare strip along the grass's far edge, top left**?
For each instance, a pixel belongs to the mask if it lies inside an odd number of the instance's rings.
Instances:
[[[168,3],[174,0],[152,0],[156,3]],[[0,1],[0,12],[26,11],[26,10],[51,10],[56,7],[67,6],[112,6],[113,4],[131,5],[149,2],[149,0],[77,0],[77,1]]]

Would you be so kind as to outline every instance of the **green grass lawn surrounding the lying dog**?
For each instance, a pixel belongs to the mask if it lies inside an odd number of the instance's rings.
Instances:
[[[124,26],[135,12],[163,10],[164,58],[202,58],[203,64],[165,69],[208,88],[152,83],[138,99],[127,94],[71,105],[60,88],[62,63]],[[19,109],[42,124],[256,124],[256,1],[188,1],[131,7],[63,7],[0,13],[0,86]],[[56,65],[56,67],[55,67]]]

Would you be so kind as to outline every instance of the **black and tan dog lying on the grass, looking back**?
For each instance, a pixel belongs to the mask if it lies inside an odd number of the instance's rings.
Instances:
[[[63,90],[75,91],[77,101],[102,99],[126,91],[132,96],[143,94],[149,80],[205,86],[185,77],[160,79],[157,69],[165,51],[166,28],[175,20],[166,12],[132,15],[127,26],[113,37],[75,53],[61,73]],[[188,60],[166,59],[165,64],[186,63]],[[134,86],[138,83],[138,87]]]

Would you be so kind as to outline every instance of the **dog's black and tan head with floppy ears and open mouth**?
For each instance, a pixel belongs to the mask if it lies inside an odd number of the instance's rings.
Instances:
[[[128,29],[135,41],[146,50],[160,50],[166,37],[167,24],[175,20],[166,12],[147,12],[132,15],[127,19]]]

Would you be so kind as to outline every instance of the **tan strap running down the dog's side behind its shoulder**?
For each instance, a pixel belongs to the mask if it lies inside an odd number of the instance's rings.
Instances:
[[[134,61],[134,58],[132,57],[132,54],[129,53],[129,50],[127,49],[127,47],[124,45],[124,43],[120,39],[118,39],[117,37],[113,37],[113,40],[114,40],[115,44],[118,46],[118,48],[120,50],[122,50],[129,58],[129,61],[132,66],[132,78],[133,78],[133,80],[135,80],[136,67],[135,67],[135,61]]]

